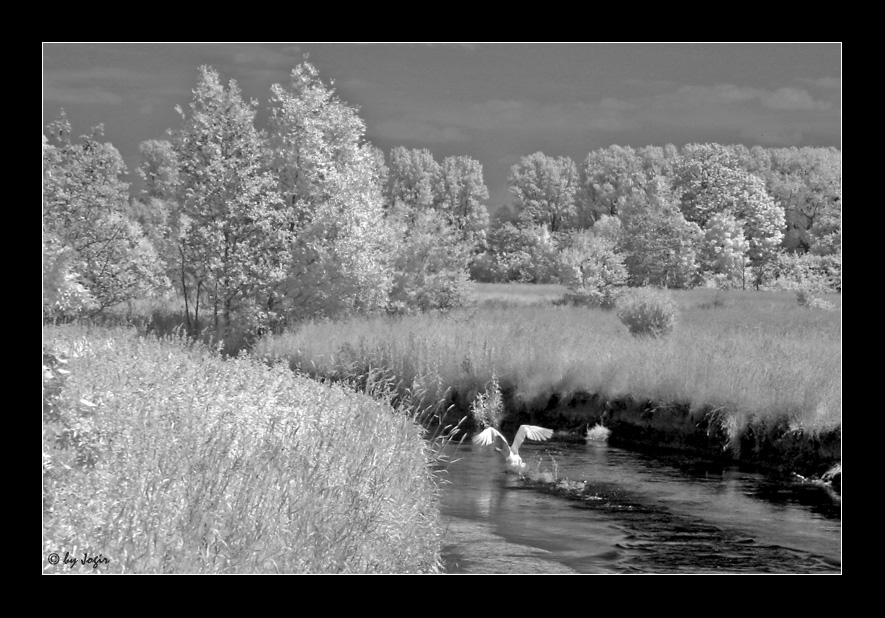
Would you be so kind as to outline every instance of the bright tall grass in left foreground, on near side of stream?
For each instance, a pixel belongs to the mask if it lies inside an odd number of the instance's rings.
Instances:
[[[121,329],[45,327],[43,372],[45,557],[113,573],[439,569],[432,454],[382,401]]]

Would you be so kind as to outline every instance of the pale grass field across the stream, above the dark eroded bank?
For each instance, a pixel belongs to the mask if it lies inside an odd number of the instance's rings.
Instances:
[[[314,322],[254,352],[321,376],[384,368],[428,401],[462,400],[493,376],[523,401],[598,394],[713,406],[742,424],[787,417],[814,433],[841,424],[841,298],[834,311],[787,292],[673,292],[679,324],[635,338],[614,312],[551,303],[560,286],[479,285],[476,303],[445,314]]]

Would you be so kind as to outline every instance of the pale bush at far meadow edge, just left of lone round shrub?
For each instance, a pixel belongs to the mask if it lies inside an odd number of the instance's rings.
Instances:
[[[614,308],[621,287],[627,283],[624,256],[615,251],[611,238],[597,236],[592,229],[577,232],[559,255],[559,278],[568,287],[567,301]]]

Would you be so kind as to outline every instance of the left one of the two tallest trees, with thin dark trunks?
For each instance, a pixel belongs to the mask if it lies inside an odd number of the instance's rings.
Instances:
[[[178,108],[174,150],[189,222],[179,243],[185,309],[197,327],[205,298],[219,337],[266,325],[269,295],[288,263],[289,213],[267,171],[255,107],[234,80],[225,88],[203,66],[189,113]]]

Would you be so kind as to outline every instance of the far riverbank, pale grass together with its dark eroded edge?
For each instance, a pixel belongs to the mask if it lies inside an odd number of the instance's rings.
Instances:
[[[613,444],[815,479],[841,462],[838,309],[786,292],[674,292],[679,325],[649,339],[612,312],[558,306],[551,286],[479,290],[472,307],[308,323],[254,353],[320,379],[378,376],[421,405],[451,407],[444,424],[497,385],[505,429],[532,422],[583,439],[601,423]]]

